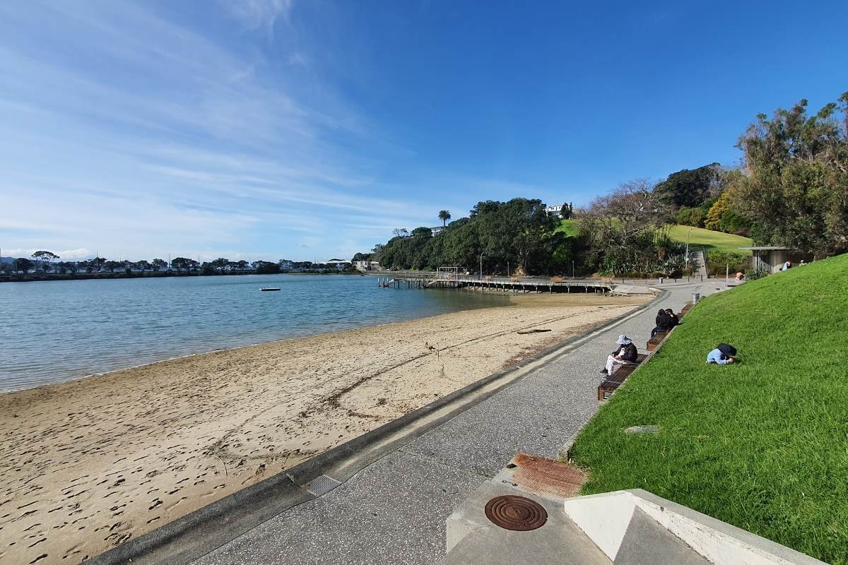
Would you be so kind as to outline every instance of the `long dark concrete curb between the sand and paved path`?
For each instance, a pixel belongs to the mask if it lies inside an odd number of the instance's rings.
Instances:
[[[195,561],[289,508],[315,500],[316,496],[305,485],[321,474],[343,483],[371,463],[502,391],[529,374],[536,365],[550,363],[594,335],[643,313],[655,302],[664,300],[667,294],[668,291],[660,291],[650,302],[605,324],[550,346],[521,363],[477,380],[309,461],[165,523],[87,562],[92,565],[164,562],[179,565]]]

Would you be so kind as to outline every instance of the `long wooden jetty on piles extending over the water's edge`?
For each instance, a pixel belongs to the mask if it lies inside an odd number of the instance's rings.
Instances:
[[[480,279],[471,275],[438,276],[432,273],[404,273],[391,278],[378,278],[380,288],[406,289],[451,289],[464,291],[499,291],[518,293],[555,293],[555,292],[600,292],[611,291],[611,283],[607,280],[565,280],[561,277],[532,278],[532,277],[494,277]]]

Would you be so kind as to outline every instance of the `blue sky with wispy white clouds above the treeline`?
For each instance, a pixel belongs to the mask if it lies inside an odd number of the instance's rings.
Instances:
[[[0,3],[0,253],[351,258],[733,166],[848,91],[848,3]]]

